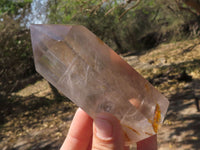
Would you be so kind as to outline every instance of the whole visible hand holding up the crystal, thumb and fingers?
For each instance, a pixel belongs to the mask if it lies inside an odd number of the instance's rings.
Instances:
[[[137,143],[137,150],[156,150],[156,136]],[[61,150],[129,150],[119,121],[111,114],[94,120],[78,109]]]

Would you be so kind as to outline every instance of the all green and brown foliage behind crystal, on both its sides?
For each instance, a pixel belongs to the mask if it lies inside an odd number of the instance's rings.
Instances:
[[[49,0],[46,15],[48,23],[88,27],[118,53],[139,53],[161,42],[200,35],[199,16],[180,9],[177,1],[187,7],[180,0]],[[1,79],[15,76],[14,82],[34,70],[30,34],[22,26],[31,2],[0,1]]]

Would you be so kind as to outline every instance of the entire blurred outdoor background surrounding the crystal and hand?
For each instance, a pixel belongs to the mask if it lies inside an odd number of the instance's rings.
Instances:
[[[58,149],[76,106],[36,73],[30,24],[81,24],[169,100],[159,150],[200,149],[199,0],[1,0],[0,149]]]

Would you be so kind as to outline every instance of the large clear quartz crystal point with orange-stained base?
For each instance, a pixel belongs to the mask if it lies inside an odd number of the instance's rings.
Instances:
[[[36,70],[92,118],[116,116],[127,144],[157,133],[169,102],[80,25],[31,25]]]

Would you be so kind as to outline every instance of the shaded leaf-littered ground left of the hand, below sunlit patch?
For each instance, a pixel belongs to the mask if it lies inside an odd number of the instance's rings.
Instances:
[[[51,86],[50,92],[42,96],[15,94],[40,80],[41,77],[34,81],[31,78],[30,82],[26,79],[15,90],[10,90],[10,85],[6,91],[1,90],[0,149],[59,149],[66,136],[66,123],[72,120],[76,106]]]

